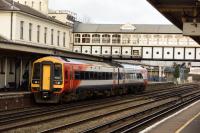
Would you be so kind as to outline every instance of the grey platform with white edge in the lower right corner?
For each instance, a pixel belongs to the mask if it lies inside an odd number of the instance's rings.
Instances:
[[[140,133],[198,133],[200,100],[155,123]]]

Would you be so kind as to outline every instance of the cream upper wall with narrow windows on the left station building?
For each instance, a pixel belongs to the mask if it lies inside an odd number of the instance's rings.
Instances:
[[[70,32],[71,28],[63,26],[51,21],[36,18],[22,13],[14,14],[14,29],[13,39],[16,42],[26,43],[30,45],[36,45],[40,47],[48,48],[60,48],[63,50],[72,50],[72,44],[70,44]],[[24,21],[24,39],[20,40],[20,21]],[[29,41],[29,23],[32,23],[32,40]],[[40,42],[37,42],[37,26],[40,25]],[[44,43],[44,28],[47,27],[47,43]],[[51,29],[54,29],[54,44],[51,45]],[[60,43],[57,44],[57,31],[60,31]],[[65,47],[63,46],[63,33],[66,33]]]

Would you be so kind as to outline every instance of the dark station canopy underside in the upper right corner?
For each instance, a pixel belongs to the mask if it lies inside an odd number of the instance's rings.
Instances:
[[[200,0],[147,0],[183,35],[192,37],[200,44]]]

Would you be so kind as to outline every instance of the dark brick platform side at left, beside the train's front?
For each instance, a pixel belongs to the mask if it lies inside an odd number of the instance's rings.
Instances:
[[[28,91],[23,92],[0,92],[0,111],[21,109],[30,107],[33,98]]]

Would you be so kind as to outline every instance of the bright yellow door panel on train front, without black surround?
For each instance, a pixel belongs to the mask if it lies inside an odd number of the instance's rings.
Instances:
[[[43,83],[42,88],[43,90],[50,90],[50,84],[51,84],[51,66],[50,65],[43,65]]]

